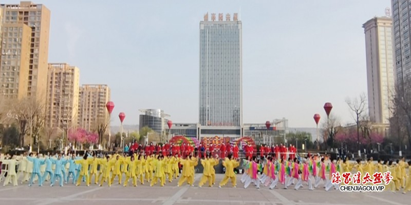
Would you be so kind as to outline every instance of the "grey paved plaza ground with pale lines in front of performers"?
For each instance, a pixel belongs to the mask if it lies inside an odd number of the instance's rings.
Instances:
[[[288,190],[279,188],[269,190],[261,187],[257,190],[254,186],[244,189],[237,175],[237,188],[227,187],[221,189],[218,185],[213,188],[197,187],[201,174],[196,174],[196,187],[184,185],[177,187],[177,180],[166,183],[165,187],[123,187],[117,183],[110,188],[91,185],[75,187],[71,184],[64,187],[50,187],[45,182],[43,187],[19,185],[18,187],[0,187],[0,204],[277,204],[277,205],[330,205],[330,204],[410,204],[411,193],[380,192],[380,193],[347,193],[339,190],[329,192],[324,189],[308,191],[307,186],[295,191],[293,187]],[[216,176],[219,182],[223,175]]]

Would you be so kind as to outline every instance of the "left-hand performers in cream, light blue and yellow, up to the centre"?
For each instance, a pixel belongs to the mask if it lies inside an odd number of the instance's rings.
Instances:
[[[218,165],[220,159],[218,155],[212,158],[210,156],[202,159],[201,163],[204,168],[207,167],[207,172],[204,171],[204,173],[211,176],[210,182],[214,184],[214,166]],[[230,155],[231,157],[232,155]],[[25,154],[22,156],[3,156],[0,158],[0,163],[7,166],[4,186],[9,183],[17,186],[17,180],[20,177],[22,177],[21,183],[28,181],[30,187],[36,180],[40,187],[46,180],[50,180],[50,186],[54,186],[57,179],[59,179],[61,187],[63,187],[63,182],[68,183],[70,179],[76,186],[79,186],[82,181],[90,186],[93,177],[94,183],[100,186],[103,186],[104,182],[111,186],[116,178],[119,184],[123,183],[124,187],[127,186],[129,179],[132,179],[134,186],[137,186],[137,179],[141,185],[144,185],[144,182],[150,182],[150,186],[154,186],[160,180],[160,186],[164,186],[166,179],[172,182],[173,179],[179,177],[179,165],[182,166],[182,171],[178,186],[181,186],[185,181],[189,185],[193,185],[194,167],[197,166],[198,159],[193,157],[192,153],[185,158],[180,158],[178,155],[164,156],[162,154],[150,156],[115,154],[97,158],[96,154],[91,156],[88,153],[85,153],[83,157],[76,157],[74,154],[67,157],[62,154],[43,157],[41,154],[34,156],[33,153],[30,153],[28,156]],[[16,167],[18,167],[17,170]],[[125,176],[124,181],[122,180],[123,176]],[[204,178],[202,178],[203,180]]]

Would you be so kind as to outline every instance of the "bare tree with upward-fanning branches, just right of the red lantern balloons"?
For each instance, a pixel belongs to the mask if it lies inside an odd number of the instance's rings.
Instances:
[[[350,111],[353,114],[353,118],[357,124],[357,140],[358,140],[358,149],[360,149],[360,120],[362,115],[366,114],[367,111],[367,96],[365,93],[360,94],[360,96],[345,99]]]

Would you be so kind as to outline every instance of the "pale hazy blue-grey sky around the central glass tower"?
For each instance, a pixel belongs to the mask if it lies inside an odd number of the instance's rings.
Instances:
[[[199,22],[207,12],[240,13],[245,123],[286,117],[290,127],[315,127],[326,101],[353,122],[345,98],[367,91],[362,24],[390,7],[389,0],[35,3],[51,10],[49,62],[79,67],[81,84],[107,84],[112,125],[119,112],[124,124],[138,124],[145,108],[198,121]]]

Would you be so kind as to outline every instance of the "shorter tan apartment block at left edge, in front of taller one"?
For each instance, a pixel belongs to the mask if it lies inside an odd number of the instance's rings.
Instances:
[[[0,30],[0,94],[21,99],[27,96],[31,28],[23,23],[4,23]]]

